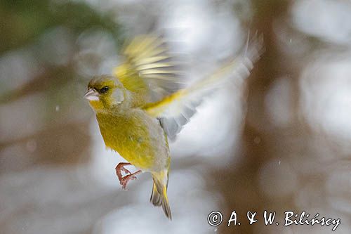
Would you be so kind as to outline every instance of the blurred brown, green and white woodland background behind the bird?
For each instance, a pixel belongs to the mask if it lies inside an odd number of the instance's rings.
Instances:
[[[0,1],[0,22],[0,233],[331,233],[265,226],[264,210],[318,212],[350,233],[350,1]],[[150,174],[121,190],[124,160],[105,150],[86,85],[136,34],[173,41],[190,82],[249,30],[266,48],[251,76],[207,98],[171,143],[170,222],[149,203]],[[241,226],[228,228],[233,210]]]

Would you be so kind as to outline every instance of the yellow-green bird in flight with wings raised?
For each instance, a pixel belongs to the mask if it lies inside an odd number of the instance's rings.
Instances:
[[[140,172],[150,172],[150,202],[161,206],[166,217],[172,219],[167,197],[171,165],[168,139],[176,137],[206,96],[233,77],[248,77],[261,53],[263,37],[256,33],[248,37],[239,56],[208,77],[185,86],[163,37],[143,34],[124,46],[122,63],[112,74],[93,77],[84,95],[95,112],[106,147],[127,161],[115,168],[122,188],[126,189]],[[131,173],[126,169],[129,165],[138,171]]]

